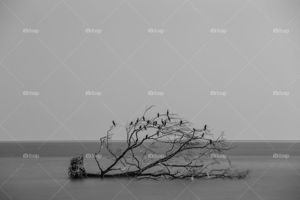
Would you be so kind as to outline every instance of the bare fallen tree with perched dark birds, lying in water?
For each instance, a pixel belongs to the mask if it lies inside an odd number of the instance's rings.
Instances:
[[[249,170],[239,172],[234,169],[227,157],[228,168],[213,168],[219,162],[212,155],[224,155],[223,151],[232,149],[225,144],[224,132],[214,140],[206,125],[201,129],[192,128],[192,123],[168,111],[148,118],[147,111],[152,107],[146,108],[142,118],[124,126],[127,142],[116,149],[111,147],[110,141],[117,124],[113,122],[106,136],[100,139],[99,151],[94,154],[99,173],[87,173],[83,156],[78,156],[71,159],[69,178],[233,179],[250,175]],[[107,159],[111,161],[107,167],[99,162],[97,156],[103,148],[108,151]]]

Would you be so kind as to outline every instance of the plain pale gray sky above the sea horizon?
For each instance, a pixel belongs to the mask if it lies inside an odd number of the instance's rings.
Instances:
[[[98,140],[146,105],[229,140],[297,140],[299,12],[296,0],[1,0],[0,140]]]

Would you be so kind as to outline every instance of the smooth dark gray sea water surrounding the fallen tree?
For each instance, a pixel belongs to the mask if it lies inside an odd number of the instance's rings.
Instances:
[[[300,199],[300,143],[290,149],[292,143],[270,143],[274,150],[267,143],[235,142],[232,146],[237,147],[225,153],[238,169],[252,170],[250,178],[194,182],[132,181],[126,178],[69,180],[70,158],[98,152],[99,143],[47,142],[39,150],[40,142],[20,144],[25,150],[17,143],[0,143],[1,200]],[[39,154],[39,158],[23,158],[24,153]],[[289,158],[273,158],[274,153],[288,154]],[[88,172],[98,172],[93,158],[84,158],[84,161]],[[219,161],[221,166],[215,168],[227,167],[226,159]],[[101,162],[106,164],[104,156]]]

